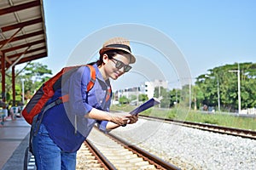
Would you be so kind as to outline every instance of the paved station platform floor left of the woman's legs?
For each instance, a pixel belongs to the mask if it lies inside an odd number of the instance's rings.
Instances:
[[[30,125],[24,118],[4,122],[0,127],[0,169],[23,169]]]

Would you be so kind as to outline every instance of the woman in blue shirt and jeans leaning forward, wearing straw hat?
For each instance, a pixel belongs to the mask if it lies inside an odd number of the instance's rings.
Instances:
[[[38,130],[32,139],[32,151],[38,170],[75,169],[76,152],[95,123],[107,133],[113,128],[137,122],[137,116],[128,113],[118,116],[108,112],[111,99],[109,78],[118,79],[130,71],[129,64],[136,61],[131,54],[130,42],[115,37],[105,42],[99,53],[100,59],[90,64],[96,71],[96,81],[90,91],[86,90],[90,69],[81,66],[52,98],[68,94],[69,101],[50,108],[44,113],[42,122],[36,125]]]

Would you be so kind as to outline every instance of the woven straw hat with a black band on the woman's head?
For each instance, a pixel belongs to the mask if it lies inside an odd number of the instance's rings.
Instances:
[[[103,44],[102,49],[100,50],[99,53],[103,54],[106,51],[111,49],[119,49],[131,54],[130,42],[129,40],[123,37],[113,37],[109,39],[107,42]],[[135,57],[133,56],[133,54],[131,54],[130,64],[135,63],[135,61],[136,61]]]

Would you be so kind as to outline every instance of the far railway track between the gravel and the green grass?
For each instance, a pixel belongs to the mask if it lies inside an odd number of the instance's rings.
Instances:
[[[154,120],[154,121],[158,120],[158,121],[169,122],[169,123],[172,122],[181,126],[194,127],[201,130],[214,132],[214,133],[223,133],[223,134],[239,136],[247,139],[256,139],[256,131],[253,131],[253,130],[246,130],[246,129],[233,128],[233,127],[223,127],[223,126],[217,126],[217,125],[200,123],[200,122],[177,121],[173,119],[166,119],[166,118],[160,118],[160,117],[154,117],[154,116],[143,116],[143,115],[140,115],[140,116],[146,119]]]

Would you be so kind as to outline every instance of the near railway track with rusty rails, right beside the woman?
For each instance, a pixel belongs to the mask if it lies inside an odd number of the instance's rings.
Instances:
[[[77,169],[180,169],[113,135],[93,129],[77,155]]]

